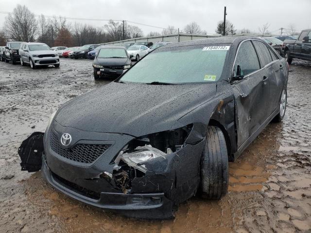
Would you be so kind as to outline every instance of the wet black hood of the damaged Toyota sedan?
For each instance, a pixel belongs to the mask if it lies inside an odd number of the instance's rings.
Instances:
[[[109,83],[65,103],[55,121],[90,132],[141,136],[174,123],[215,96],[216,84],[148,85]]]

